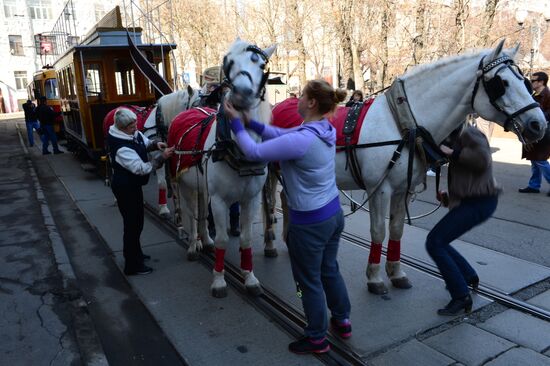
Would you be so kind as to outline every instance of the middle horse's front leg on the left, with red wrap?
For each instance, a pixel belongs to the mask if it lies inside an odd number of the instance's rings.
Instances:
[[[212,274],[214,276],[212,285],[210,285],[210,292],[214,297],[226,297],[227,296],[227,283],[224,279],[224,257],[225,248],[229,236],[227,235],[228,228],[228,210],[229,206],[218,196],[210,197],[210,205],[212,208],[212,216],[214,218],[214,225],[216,227],[216,238],[214,239],[214,256],[216,258],[214,264],[214,270]]]

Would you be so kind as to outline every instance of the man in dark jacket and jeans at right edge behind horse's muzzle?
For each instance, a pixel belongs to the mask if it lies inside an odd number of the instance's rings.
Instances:
[[[546,121],[550,121],[550,89],[548,89],[548,75],[544,72],[535,72],[531,76],[533,84],[533,98],[540,104],[540,108],[546,117]],[[534,143],[523,146],[521,155],[522,159],[531,161],[531,178],[529,184],[525,188],[520,188],[521,193],[539,193],[542,184],[542,177],[550,183],[550,129],[546,127],[546,132],[543,138]],[[550,191],[547,193],[550,197]]]

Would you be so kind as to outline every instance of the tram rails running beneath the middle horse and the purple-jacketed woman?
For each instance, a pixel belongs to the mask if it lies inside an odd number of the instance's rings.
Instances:
[[[179,238],[176,225],[165,219],[162,219],[156,212],[156,209],[150,204],[145,203],[147,214],[155,223],[171,235],[175,241],[187,249],[187,243]],[[199,261],[207,268],[214,268],[214,256],[212,253],[201,252]],[[299,338],[302,335],[302,329],[306,321],[302,313],[292,304],[283,300],[280,296],[271,290],[268,286],[262,284],[263,294],[257,297],[250,296],[244,286],[244,279],[238,266],[225,262],[225,280],[226,282],[247,302],[262,312],[268,319],[275,322],[292,337]],[[331,344],[331,351],[315,356],[326,365],[366,365],[360,354],[350,348],[345,342],[333,336],[327,335]]]

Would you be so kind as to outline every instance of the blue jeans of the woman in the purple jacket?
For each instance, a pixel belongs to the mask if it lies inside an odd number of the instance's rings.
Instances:
[[[319,223],[289,225],[288,253],[294,280],[302,294],[306,337],[319,339],[326,335],[327,305],[334,319],[349,318],[351,304],[336,261],[342,230],[342,211]]]

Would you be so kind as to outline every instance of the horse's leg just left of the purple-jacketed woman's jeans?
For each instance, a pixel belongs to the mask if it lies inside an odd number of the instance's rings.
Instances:
[[[267,179],[262,188],[262,215],[264,223],[264,255],[269,258],[278,255],[277,248],[273,241],[275,240],[275,231],[273,224],[275,218],[275,192],[277,188],[277,176],[271,169],[268,169]]]

